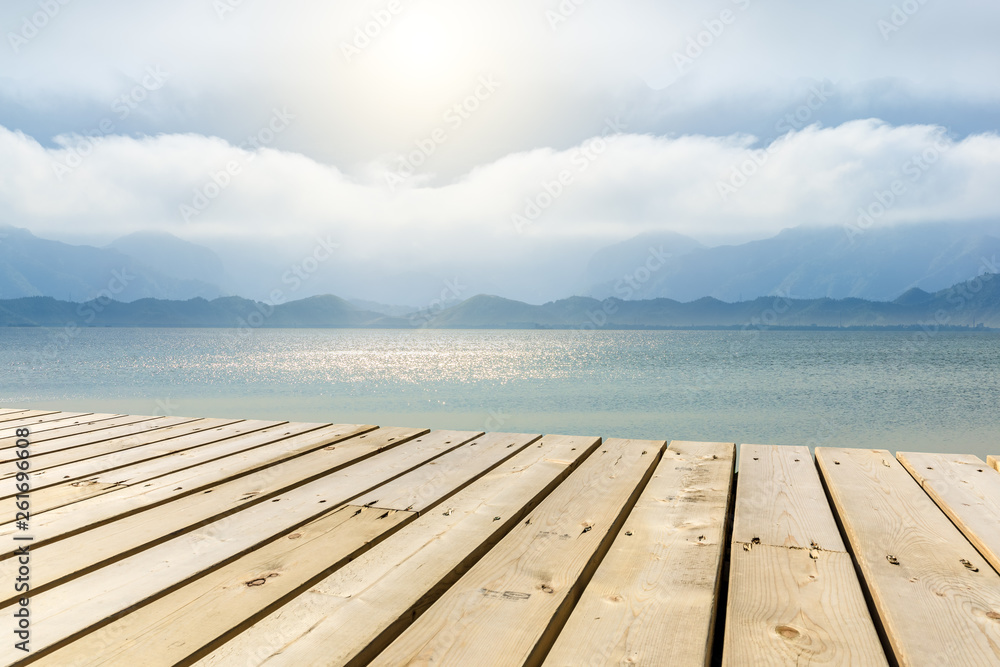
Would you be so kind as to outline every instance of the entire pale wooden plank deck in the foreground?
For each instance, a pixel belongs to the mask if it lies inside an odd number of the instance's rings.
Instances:
[[[3,664],[1000,664],[995,457],[13,409],[0,455]]]

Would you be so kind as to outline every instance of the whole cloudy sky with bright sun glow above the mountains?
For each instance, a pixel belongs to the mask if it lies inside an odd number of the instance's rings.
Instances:
[[[367,280],[542,298],[640,233],[849,225],[897,181],[885,224],[997,220],[998,24],[981,0],[8,0],[0,223],[332,238]]]

